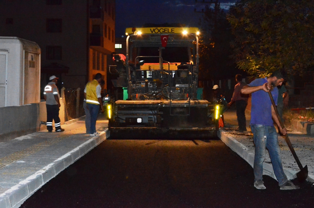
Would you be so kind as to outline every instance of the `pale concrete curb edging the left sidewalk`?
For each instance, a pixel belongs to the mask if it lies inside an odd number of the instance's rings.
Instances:
[[[27,200],[32,194],[35,193],[35,191],[40,189],[50,179],[56,177],[57,174],[84,156],[95,146],[106,140],[109,136],[110,132],[108,129],[106,129],[105,131],[101,132],[99,136],[89,139],[72,151],[53,161],[43,169],[35,172],[30,177],[11,187],[0,195],[0,207],[17,208],[21,206],[25,200]]]

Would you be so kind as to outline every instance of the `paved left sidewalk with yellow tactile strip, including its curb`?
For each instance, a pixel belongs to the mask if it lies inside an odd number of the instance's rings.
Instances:
[[[84,120],[0,142],[0,208],[19,207],[36,190],[109,137],[100,116],[99,136],[86,134]]]

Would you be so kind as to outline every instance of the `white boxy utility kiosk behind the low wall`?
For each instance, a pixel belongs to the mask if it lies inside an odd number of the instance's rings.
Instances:
[[[40,102],[40,61],[37,43],[0,36],[0,107]]]

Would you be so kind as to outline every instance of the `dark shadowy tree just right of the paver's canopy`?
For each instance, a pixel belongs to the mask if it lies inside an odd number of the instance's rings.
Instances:
[[[220,8],[219,3],[214,9],[205,6],[200,27],[202,31],[199,41],[200,77],[202,79],[234,77],[240,72],[230,58],[232,54],[230,41],[234,37],[226,13]]]

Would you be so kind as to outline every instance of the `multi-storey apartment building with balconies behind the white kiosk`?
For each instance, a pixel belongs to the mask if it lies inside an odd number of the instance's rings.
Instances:
[[[0,0],[0,36],[41,47],[41,89],[51,75],[60,77],[59,88],[84,88],[97,73],[106,81],[115,7],[115,0]]]

